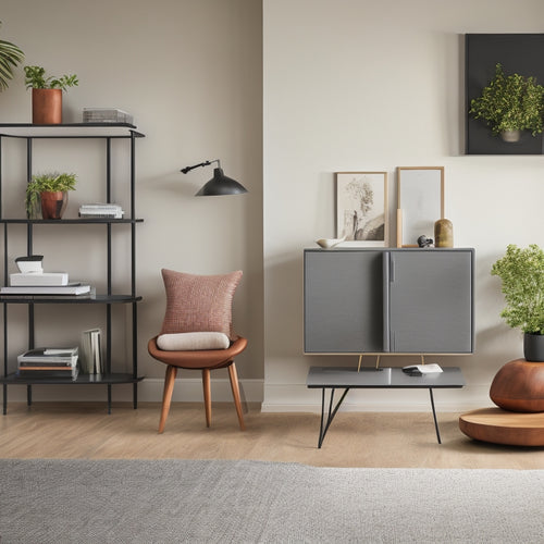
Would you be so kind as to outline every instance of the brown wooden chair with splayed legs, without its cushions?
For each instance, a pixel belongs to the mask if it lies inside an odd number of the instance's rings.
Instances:
[[[174,391],[174,380],[177,369],[199,369],[202,371],[203,398],[206,409],[206,426],[211,424],[211,391],[210,391],[210,371],[227,368],[231,379],[231,388],[234,396],[234,405],[238,415],[239,426],[245,431],[244,416],[242,413],[242,403],[239,396],[238,376],[234,358],[244,351],[247,346],[247,339],[238,336],[226,349],[209,349],[200,351],[165,351],[157,346],[154,336],[148,343],[148,351],[154,359],[168,364],[164,378],[164,393],[162,397],[161,419],[159,422],[159,433],[164,431],[164,424],[170,411],[172,392]]]

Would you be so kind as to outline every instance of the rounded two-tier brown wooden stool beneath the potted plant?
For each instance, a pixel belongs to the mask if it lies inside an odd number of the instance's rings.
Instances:
[[[459,417],[471,438],[514,446],[544,446],[544,363],[516,359],[495,375],[484,408]]]

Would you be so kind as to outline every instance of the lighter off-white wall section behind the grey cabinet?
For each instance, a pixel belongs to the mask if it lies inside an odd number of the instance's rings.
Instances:
[[[491,381],[521,355],[521,336],[498,317],[500,285],[490,268],[507,244],[544,244],[544,157],[463,156],[462,37],[542,32],[543,16],[540,0],[264,0],[264,410],[314,407],[319,394],[305,386],[310,364],[357,363],[302,356],[302,249],[335,235],[336,171],[390,173],[395,233],[399,165],[445,166],[455,245],[477,250],[477,350],[436,359],[460,366],[467,380],[437,404],[491,405]],[[416,392],[349,398],[351,409],[429,403]]]

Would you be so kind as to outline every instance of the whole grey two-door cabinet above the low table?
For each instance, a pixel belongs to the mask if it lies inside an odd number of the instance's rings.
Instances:
[[[305,249],[306,354],[471,354],[471,248]]]

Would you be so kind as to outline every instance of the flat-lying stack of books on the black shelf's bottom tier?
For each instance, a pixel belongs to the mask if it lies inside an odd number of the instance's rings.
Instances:
[[[78,374],[78,348],[36,348],[17,357],[17,376],[24,379],[65,378]]]

